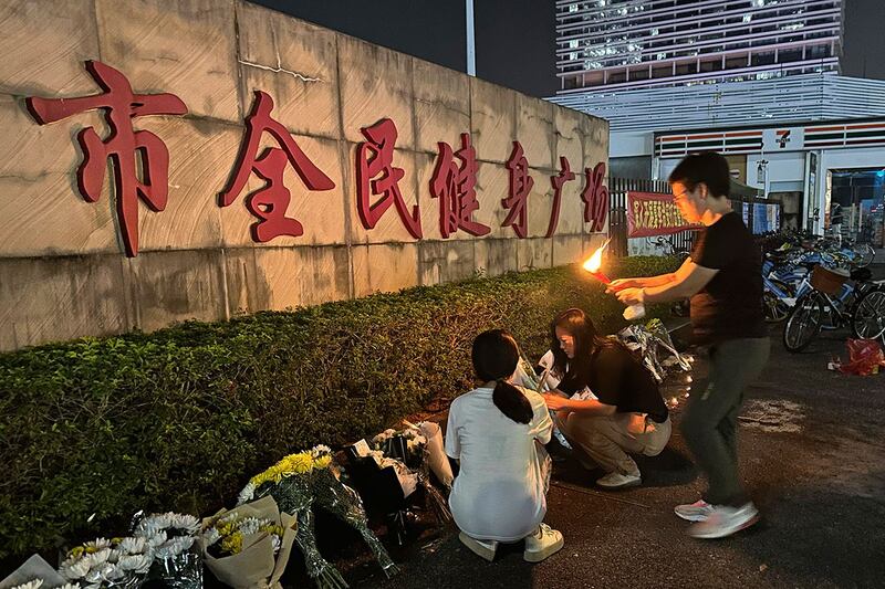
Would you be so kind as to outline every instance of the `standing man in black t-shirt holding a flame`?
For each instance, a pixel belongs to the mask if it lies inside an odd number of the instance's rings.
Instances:
[[[675,509],[695,522],[688,534],[697,538],[729,536],[759,518],[738,475],[737,430],[743,389],[762,371],[770,341],[762,317],[761,253],[731,210],[729,179],[719,154],[685,158],[669,182],[683,217],[705,227],[690,257],[673,274],[618,280],[610,287],[628,305],[691,297],[695,340],[709,347],[709,383],[689,398],[681,422],[708,491]]]

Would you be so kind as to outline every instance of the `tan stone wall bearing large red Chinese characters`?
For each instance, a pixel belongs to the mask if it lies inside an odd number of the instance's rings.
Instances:
[[[607,228],[606,122],[248,2],[3,2],[0,54],[0,350],[566,264]]]

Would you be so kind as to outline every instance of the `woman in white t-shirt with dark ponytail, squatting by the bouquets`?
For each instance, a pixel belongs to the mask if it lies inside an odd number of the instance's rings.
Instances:
[[[507,332],[473,340],[473,370],[483,385],[449,408],[446,453],[459,461],[449,506],[460,540],[486,560],[498,543],[525,539],[523,558],[539,562],[563,546],[546,514],[553,423],[543,398],[513,386],[519,350]]]

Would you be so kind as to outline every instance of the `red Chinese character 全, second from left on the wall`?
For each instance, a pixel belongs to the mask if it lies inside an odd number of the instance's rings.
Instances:
[[[260,219],[251,227],[252,240],[263,243],[280,235],[298,238],[304,233],[304,228],[295,219],[285,215],[292,198],[283,182],[287,164],[292,165],[309,190],[332,190],[335,182],[314,166],[289,130],[270,116],[273,99],[260,90],[254,94],[252,112],[246,117],[246,137],[236,172],[228,188],[219,193],[219,206],[229,207],[237,200],[249,180],[249,175],[254,171],[267,183],[246,199],[246,208]],[[264,132],[270,133],[280,147],[268,147],[259,156],[259,144]]]

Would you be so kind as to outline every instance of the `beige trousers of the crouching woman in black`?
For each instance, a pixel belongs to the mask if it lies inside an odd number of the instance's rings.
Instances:
[[[610,473],[638,475],[639,467],[627,453],[658,455],[673,430],[669,418],[664,423],[655,423],[642,413],[584,416],[570,412],[558,418],[560,430],[572,446]]]

